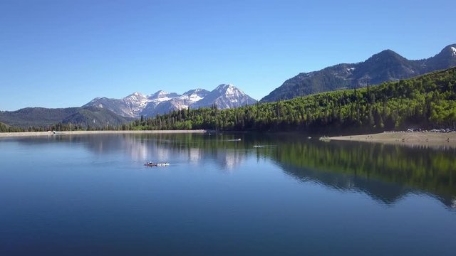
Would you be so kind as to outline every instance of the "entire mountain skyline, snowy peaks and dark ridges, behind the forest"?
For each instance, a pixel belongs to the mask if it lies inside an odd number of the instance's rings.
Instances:
[[[310,73],[300,73],[286,80],[260,102],[288,100],[318,92],[412,78],[455,65],[456,44],[446,46],[437,55],[423,60],[408,60],[393,50],[383,50],[361,63],[342,63]],[[13,127],[46,127],[57,123],[105,127],[130,122],[141,116],[155,117],[157,114],[189,107],[216,105],[219,109],[227,109],[255,102],[257,101],[234,85],[223,84],[210,92],[204,89],[189,90],[182,95],[162,90],[152,95],[135,92],[122,99],[97,97],[82,107],[27,107],[16,111],[0,111],[0,122]]]

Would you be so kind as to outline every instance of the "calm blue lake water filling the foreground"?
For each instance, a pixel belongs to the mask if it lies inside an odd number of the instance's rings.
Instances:
[[[276,134],[0,139],[0,255],[455,255],[455,238],[455,149]]]

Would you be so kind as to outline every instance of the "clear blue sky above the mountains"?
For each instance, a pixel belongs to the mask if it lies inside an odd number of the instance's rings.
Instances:
[[[0,110],[75,107],[138,91],[284,80],[380,50],[456,43],[454,0],[0,0]]]

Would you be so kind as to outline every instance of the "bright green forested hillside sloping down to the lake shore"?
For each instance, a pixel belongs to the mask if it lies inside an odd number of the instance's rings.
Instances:
[[[410,80],[293,100],[217,110],[179,110],[141,118],[120,129],[214,129],[226,131],[372,132],[456,127],[456,68]]]

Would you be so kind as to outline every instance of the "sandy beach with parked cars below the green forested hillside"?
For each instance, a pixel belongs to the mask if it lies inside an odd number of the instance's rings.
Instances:
[[[456,146],[456,132],[382,132],[378,134],[329,137],[328,139],[352,142],[380,142],[387,144]]]

